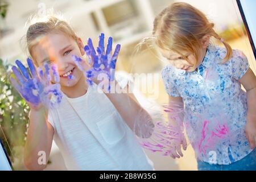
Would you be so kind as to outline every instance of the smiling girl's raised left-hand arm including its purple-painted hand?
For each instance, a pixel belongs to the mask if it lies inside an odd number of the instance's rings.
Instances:
[[[29,72],[19,60],[16,60],[18,68],[12,67],[15,77],[11,77],[10,80],[31,108],[30,126],[24,147],[24,164],[28,169],[41,170],[46,167],[53,139],[53,128],[47,121],[48,109],[46,108],[55,104],[50,97],[57,95],[56,100],[60,101],[62,96],[59,84],[50,84],[49,65],[44,65],[43,72],[42,68],[36,70],[31,59],[27,59],[27,64],[30,68]],[[56,66],[52,65],[51,69],[53,81],[59,82]]]

